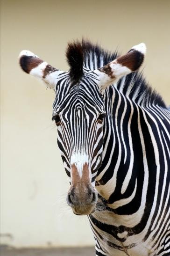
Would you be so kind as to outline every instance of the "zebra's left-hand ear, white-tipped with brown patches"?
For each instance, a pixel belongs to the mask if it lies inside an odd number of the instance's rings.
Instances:
[[[21,69],[45,82],[50,88],[55,88],[57,76],[62,71],[50,66],[31,51],[23,50],[19,55]]]

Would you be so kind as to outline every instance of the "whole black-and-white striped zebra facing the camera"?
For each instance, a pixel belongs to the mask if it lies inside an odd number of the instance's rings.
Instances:
[[[145,53],[144,43],[119,56],[76,40],[68,72],[19,55],[56,93],[67,203],[88,216],[96,256],[170,256],[170,111],[138,71]]]

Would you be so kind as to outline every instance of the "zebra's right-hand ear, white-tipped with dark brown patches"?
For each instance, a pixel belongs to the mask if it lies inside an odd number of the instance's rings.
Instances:
[[[106,66],[94,70],[99,75],[99,87],[106,88],[122,76],[134,72],[140,68],[146,53],[144,43],[135,45],[127,54],[113,60]]]

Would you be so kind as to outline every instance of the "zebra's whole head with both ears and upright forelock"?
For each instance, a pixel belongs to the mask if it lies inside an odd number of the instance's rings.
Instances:
[[[77,215],[94,212],[98,194],[95,179],[102,163],[106,102],[104,90],[122,76],[137,70],[145,45],[134,46],[126,55],[102,66],[92,45],[82,41],[68,45],[69,72],[63,72],[30,51],[21,51],[21,68],[53,88],[52,120],[57,143],[70,179],[67,203]]]

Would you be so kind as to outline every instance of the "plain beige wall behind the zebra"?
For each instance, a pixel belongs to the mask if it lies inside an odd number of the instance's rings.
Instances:
[[[1,1],[1,238],[14,246],[93,244],[65,203],[68,179],[51,122],[53,91],[18,65],[22,49],[67,70],[69,40],[126,52],[145,42],[146,79],[170,104],[170,1]]]

